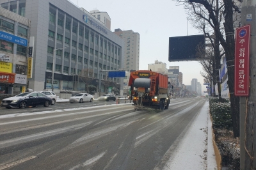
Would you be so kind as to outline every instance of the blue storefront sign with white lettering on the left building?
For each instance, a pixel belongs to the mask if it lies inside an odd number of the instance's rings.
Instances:
[[[28,40],[25,38],[21,38],[19,36],[11,35],[9,33],[5,33],[4,31],[0,31],[0,39],[6,40],[8,42],[17,43],[19,45],[28,46]]]

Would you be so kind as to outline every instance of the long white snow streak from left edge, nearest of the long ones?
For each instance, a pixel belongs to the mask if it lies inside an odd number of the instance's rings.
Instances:
[[[91,123],[92,123],[92,121],[87,122],[87,123],[81,123],[79,125],[74,125],[74,126],[70,126],[70,127],[58,128],[58,129],[55,129],[55,130],[40,132],[38,134],[26,135],[26,136],[23,136],[23,137],[17,137],[15,139],[1,141],[0,142],[0,148],[6,148],[8,146],[13,146],[15,144],[20,144],[20,143],[26,143],[26,142],[33,141],[33,140],[36,140],[36,139],[42,139],[44,137],[49,137],[51,135],[62,134],[62,133],[67,132],[68,130],[77,130],[79,128],[86,127],[87,125],[90,125]]]

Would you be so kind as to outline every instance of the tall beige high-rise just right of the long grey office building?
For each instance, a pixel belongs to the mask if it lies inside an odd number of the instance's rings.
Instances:
[[[122,31],[115,29],[116,35],[124,40],[124,69],[127,71],[139,70],[140,65],[140,34],[132,30]]]

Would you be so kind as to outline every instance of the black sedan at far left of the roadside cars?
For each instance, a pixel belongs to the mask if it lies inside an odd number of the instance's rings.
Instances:
[[[25,92],[16,95],[15,97],[8,97],[2,100],[1,106],[10,109],[12,107],[19,107],[24,109],[28,106],[36,107],[36,105],[44,105],[48,107],[52,103],[52,99],[38,91]]]

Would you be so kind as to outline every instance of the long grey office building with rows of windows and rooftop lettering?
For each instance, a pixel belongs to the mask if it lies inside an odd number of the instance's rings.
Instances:
[[[51,89],[53,84],[57,93],[87,91],[88,85],[99,88],[100,68],[124,68],[124,41],[83,8],[68,0],[26,0],[22,5],[20,2],[0,0],[4,8],[31,20],[35,47],[29,88]],[[13,4],[19,5],[19,10],[13,10]],[[88,77],[90,84],[79,79],[79,75]],[[103,72],[102,78],[100,91],[105,92],[108,86],[122,91],[123,78],[108,78],[107,72]]]

